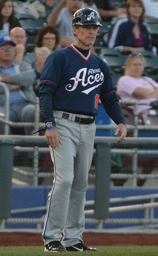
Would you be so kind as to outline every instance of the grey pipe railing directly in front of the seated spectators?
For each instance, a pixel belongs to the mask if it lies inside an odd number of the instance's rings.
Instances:
[[[9,126],[11,127],[28,127],[32,126],[32,123],[15,123],[9,121],[9,89],[6,84],[0,82],[0,86],[3,87],[5,95],[6,95],[6,100],[5,100],[5,118],[0,117],[0,121],[5,124],[5,134],[9,134]],[[138,125],[138,101],[137,100],[120,100],[121,105],[127,105],[127,106],[133,106],[133,115],[134,115],[134,122],[133,125],[127,125],[127,130],[132,130],[133,131],[133,136],[137,137],[138,136],[138,130],[158,130],[158,126],[150,126],[150,125]],[[38,130],[40,128],[44,127],[43,123],[39,122],[39,101],[38,98],[36,98],[35,102],[35,122],[33,124],[34,130]],[[102,130],[109,130],[109,129],[116,129],[115,124],[106,124],[106,125],[99,125],[96,124],[97,130],[102,129]],[[38,135],[36,133],[35,135]],[[13,168],[13,171],[17,174],[23,174],[24,176],[29,176],[33,177],[33,184],[38,185],[38,177],[53,177],[54,174],[50,173],[38,173],[38,155],[39,152],[45,153],[46,151],[49,152],[49,149],[45,148],[38,148],[38,147],[18,147],[15,146],[15,150],[18,152],[32,152],[33,153],[33,168],[32,172],[31,171],[26,171],[23,170],[23,168]],[[95,152],[95,150],[94,150]],[[158,151],[157,150],[137,150],[137,148],[133,148],[130,150],[123,150],[123,149],[112,149],[111,153],[114,154],[131,154],[132,155],[132,174],[111,174],[112,179],[122,179],[122,178],[133,178],[133,187],[137,186],[137,179],[146,179],[146,178],[152,178],[153,175],[151,174],[146,174],[146,175],[141,175],[137,174],[137,167],[138,167],[138,155],[157,155]],[[89,176],[95,177],[95,174],[89,174]],[[154,177],[156,177],[154,175]]]

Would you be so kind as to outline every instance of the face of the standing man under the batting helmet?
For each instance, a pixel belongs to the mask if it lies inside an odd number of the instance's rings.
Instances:
[[[79,26],[79,29],[76,29],[73,26],[73,32],[76,35],[76,41],[79,42],[81,46],[93,45],[96,40],[98,26],[96,25]]]

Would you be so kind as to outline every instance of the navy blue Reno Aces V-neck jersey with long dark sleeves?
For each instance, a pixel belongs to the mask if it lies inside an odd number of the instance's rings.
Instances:
[[[73,44],[48,56],[41,72],[39,99],[45,122],[54,121],[53,109],[96,116],[99,99],[107,111],[111,99],[119,105],[106,63],[90,50],[85,57]],[[119,111],[121,120],[120,105]]]

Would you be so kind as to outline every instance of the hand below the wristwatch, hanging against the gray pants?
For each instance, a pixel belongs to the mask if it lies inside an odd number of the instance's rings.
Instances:
[[[50,147],[56,149],[59,147],[60,136],[57,128],[46,130],[47,143]]]

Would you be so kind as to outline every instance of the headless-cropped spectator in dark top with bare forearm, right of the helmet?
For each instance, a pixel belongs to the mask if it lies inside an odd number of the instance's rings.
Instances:
[[[126,0],[94,0],[102,19],[111,19],[125,14]]]

